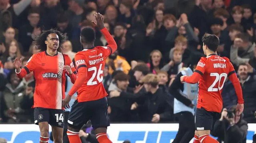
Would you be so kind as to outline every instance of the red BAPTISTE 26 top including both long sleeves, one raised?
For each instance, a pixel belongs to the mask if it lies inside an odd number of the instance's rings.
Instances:
[[[103,71],[106,58],[116,51],[117,45],[106,28],[101,31],[108,42],[106,47],[97,46],[84,49],[76,53],[75,56],[78,78],[68,95],[72,96],[77,91],[78,102],[98,100],[108,95],[102,84]]]

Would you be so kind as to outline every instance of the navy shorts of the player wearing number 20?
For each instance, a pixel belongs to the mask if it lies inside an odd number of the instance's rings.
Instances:
[[[220,119],[220,113],[196,108],[196,130],[212,130],[214,123]]]

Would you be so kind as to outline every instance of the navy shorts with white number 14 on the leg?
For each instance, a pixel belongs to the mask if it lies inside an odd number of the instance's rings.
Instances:
[[[56,127],[64,127],[64,110],[61,109],[48,109],[36,107],[34,108],[35,124],[47,121],[50,125]]]

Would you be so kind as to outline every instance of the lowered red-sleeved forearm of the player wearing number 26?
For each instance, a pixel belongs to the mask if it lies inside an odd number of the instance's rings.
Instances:
[[[74,95],[76,93],[76,91],[83,85],[84,81],[86,80],[86,76],[87,76],[87,68],[86,67],[79,68],[78,73],[79,74],[74,83],[74,86],[68,92],[68,95],[70,95],[70,96]]]

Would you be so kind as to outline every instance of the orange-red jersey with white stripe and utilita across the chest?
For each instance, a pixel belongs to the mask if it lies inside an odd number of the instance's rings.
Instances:
[[[46,51],[32,55],[25,67],[21,69],[17,76],[23,78],[33,71],[36,80],[34,92],[34,108],[62,108],[62,100],[65,98],[66,72],[64,65],[71,67],[75,72],[74,64],[68,55],[57,52],[50,56]]]

